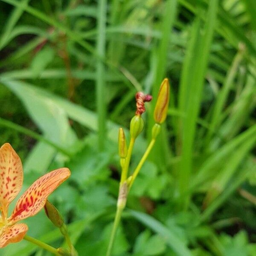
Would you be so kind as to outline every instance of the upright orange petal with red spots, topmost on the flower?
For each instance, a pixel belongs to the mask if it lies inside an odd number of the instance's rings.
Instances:
[[[9,143],[0,148],[0,204],[7,214],[9,204],[20,192],[23,171],[20,157]]]

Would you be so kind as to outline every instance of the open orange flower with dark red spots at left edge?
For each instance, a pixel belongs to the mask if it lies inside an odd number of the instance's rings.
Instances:
[[[28,227],[18,221],[38,213],[47,197],[70,176],[70,170],[60,168],[36,180],[17,201],[7,218],[9,204],[17,197],[23,183],[20,157],[9,143],[0,148],[0,248],[23,239]]]

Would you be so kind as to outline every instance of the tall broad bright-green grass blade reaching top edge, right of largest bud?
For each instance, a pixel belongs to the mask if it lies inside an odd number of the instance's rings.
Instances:
[[[207,20],[204,35],[200,38],[198,46],[198,56],[195,60],[195,74],[190,80],[190,97],[187,102],[186,116],[183,129],[182,157],[180,162],[179,189],[181,196],[181,207],[187,209],[189,196],[183,197],[183,193],[189,187],[190,173],[192,170],[192,152],[195,137],[196,121],[201,106],[201,94],[204,85],[204,77],[207,70],[210,46],[212,43],[213,32],[218,11],[218,0],[209,1]]]

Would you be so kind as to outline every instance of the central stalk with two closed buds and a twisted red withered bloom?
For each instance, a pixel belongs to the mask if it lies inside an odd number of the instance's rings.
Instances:
[[[131,154],[134,148],[134,143],[136,138],[142,132],[144,127],[144,121],[141,115],[145,112],[145,102],[150,102],[152,99],[151,95],[144,95],[142,92],[136,93],[136,106],[137,111],[135,116],[131,119],[130,122],[130,143],[126,154],[126,141],[125,141],[125,134],[122,128],[119,129],[119,157],[120,157],[120,164],[122,167],[121,179],[119,184],[119,194],[118,200],[116,204],[116,215],[114,219],[113,228],[111,231],[111,237],[108,244],[108,250],[106,256],[111,256],[112,247],[114,244],[116,231],[119,226],[119,222],[121,220],[122,212],[125,209],[128,193],[131,189],[131,186],[134,183],[137,175],[140,172],[145,160],[147,159],[151,149],[154,147],[156,142],[157,136],[161,130],[161,124],[165,121],[169,106],[169,81],[168,79],[164,79],[157,97],[156,107],[154,109],[154,120],[155,124],[152,128],[152,137],[151,141],[146,148],[143,157],[141,158],[140,162],[138,163],[137,167],[135,168],[133,174],[128,177],[128,169],[130,166],[131,161]]]

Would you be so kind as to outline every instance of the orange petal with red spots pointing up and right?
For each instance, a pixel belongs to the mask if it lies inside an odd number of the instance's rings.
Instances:
[[[15,223],[38,213],[45,205],[47,197],[70,176],[67,168],[57,169],[36,180],[17,201],[9,223]]]

